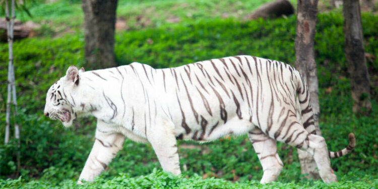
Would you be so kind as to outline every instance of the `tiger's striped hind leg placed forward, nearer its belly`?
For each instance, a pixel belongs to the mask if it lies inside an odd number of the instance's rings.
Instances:
[[[264,174],[260,183],[277,180],[283,167],[283,163],[277,153],[277,141],[265,135],[259,128],[248,132],[248,138],[254,146],[263,167]]]

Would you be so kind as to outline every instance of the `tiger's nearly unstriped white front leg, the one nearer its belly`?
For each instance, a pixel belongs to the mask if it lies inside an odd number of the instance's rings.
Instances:
[[[161,125],[154,126],[150,130],[147,128],[147,139],[151,143],[161,167],[164,171],[174,175],[181,174],[173,123],[162,121]]]

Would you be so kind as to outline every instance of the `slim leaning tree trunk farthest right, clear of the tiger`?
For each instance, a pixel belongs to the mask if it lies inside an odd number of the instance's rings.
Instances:
[[[348,62],[353,112],[371,111],[370,82],[363,49],[361,12],[358,0],[344,0],[345,56]]]

